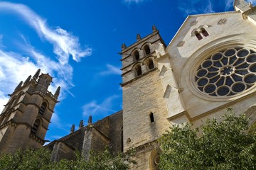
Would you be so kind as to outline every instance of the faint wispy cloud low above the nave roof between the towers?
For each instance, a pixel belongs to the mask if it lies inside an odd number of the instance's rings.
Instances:
[[[87,117],[89,115],[110,115],[114,113],[113,103],[114,100],[119,98],[117,95],[110,96],[106,98],[102,103],[97,103],[97,101],[90,101],[82,106],[82,115]]]

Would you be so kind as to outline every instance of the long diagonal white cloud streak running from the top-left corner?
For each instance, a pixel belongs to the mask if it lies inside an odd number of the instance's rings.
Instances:
[[[57,27],[55,30],[49,28],[46,20],[38,16],[27,6],[4,1],[0,2],[0,12],[6,10],[17,13],[19,17],[23,17],[30,26],[36,29],[41,38],[51,42],[53,44],[53,52],[58,56],[61,64],[68,63],[70,55],[75,61],[79,61],[81,57],[91,55],[91,48],[80,48],[78,37],[60,27]]]

